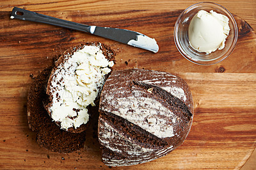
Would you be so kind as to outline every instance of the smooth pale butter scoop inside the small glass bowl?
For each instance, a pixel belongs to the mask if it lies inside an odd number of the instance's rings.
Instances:
[[[220,13],[200,10],[189,24],[189,45],[206,54],[223,49],[230,31],[228,21],[228,17]]]

